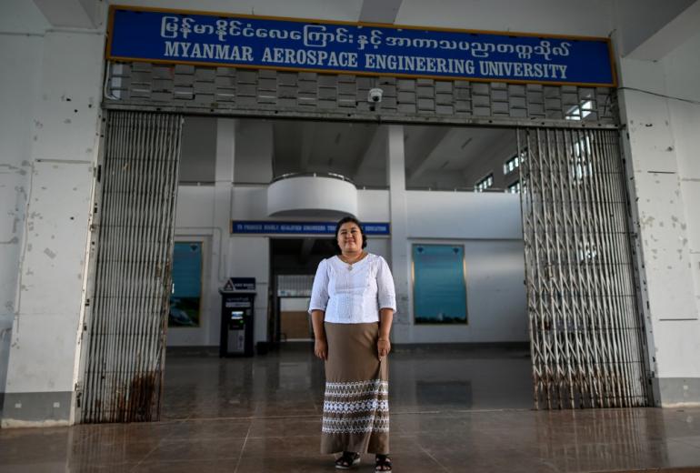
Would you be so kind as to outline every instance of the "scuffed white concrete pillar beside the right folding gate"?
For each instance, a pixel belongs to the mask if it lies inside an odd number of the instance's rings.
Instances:
[[[621,69],[623,86],[660,95],[631,89],[620,93],[655,401],[666,407],[696,404],[700,403],[700,321],[694,287],[697,267],[688,228],[693,203],[685,195],[679,166],[682,125],[674,123],[671,104],[664,97],[669,95],[668,71],[662,63],[623,59]]]

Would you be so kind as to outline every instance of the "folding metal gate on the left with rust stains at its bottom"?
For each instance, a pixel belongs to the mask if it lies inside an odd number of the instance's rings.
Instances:
[[[160,414],[182,121],[107,115],[83,422]]]

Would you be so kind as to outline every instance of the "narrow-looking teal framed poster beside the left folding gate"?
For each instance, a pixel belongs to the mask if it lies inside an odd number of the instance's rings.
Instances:
[[[202,242],[176,241],[168,327],[199,327],[202,304]]]

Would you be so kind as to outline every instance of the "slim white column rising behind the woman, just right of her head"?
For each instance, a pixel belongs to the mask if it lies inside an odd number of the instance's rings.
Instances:
[[[413,319],[408,298],[411,290],[411,260],[408,255],[406,222],[404,126],[386,126],[385,133],[386,177],[391,217],[391,267],[396,286],[394,340],[398,343],[408,343],[413,341]]]

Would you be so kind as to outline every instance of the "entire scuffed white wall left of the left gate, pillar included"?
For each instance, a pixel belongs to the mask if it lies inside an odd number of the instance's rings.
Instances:
[[[2,10],[0,153],[8,172],[0,178],[0,238],[13,242],[0,247],[2,425],[67,424],[78,377],[104,36],[47,30],[31,2],[5,2]]]

